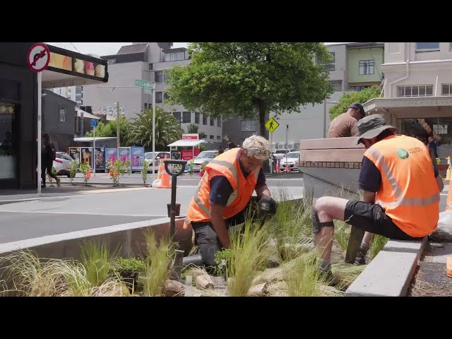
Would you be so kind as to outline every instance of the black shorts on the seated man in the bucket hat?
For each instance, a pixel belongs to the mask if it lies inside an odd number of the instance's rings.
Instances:
[[[344,220],[361,230],[396,240],[420,240],[400,230],[383,208],[374,203],[350,200],[345,206]]]

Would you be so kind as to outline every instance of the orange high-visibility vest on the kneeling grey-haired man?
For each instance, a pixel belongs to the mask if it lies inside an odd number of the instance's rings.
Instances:
[[[227,178],[232,186],[232,194],[227,201],[223,218],[232,218],[237,213],[244,210],[249,203],[254,189],[256,188],[259,170],[258,167],[246,178],[240,169],[237,153],[240,148],[232,148],[215,157],[214,160],[206,165],[206,173],[198,185],[198,189],[191,199],[189,209],[186,213],[184,228],[187,228],[190,222],[203,222],[210,220],[210,179],[217,175]]]

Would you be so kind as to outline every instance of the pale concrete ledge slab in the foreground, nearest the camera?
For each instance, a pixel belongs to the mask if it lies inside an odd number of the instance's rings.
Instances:
[[[348,287],[345,296],[405,297],[417,263],[417,253],[380,251]]]

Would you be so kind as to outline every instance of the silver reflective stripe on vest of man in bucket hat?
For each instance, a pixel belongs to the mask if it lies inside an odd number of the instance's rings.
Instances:
[[[367,150],[367,153],[374,157],[376,162],[375,165],[379,165],[381,167],[381,170],[386,175],[386,179],[388,179],[388,182],[391,184],[393,195],[396,198],[396,201],[391,203],[383,201],[375,201],[375,203],[379,204],[383,208],[396,208],[398,206],[429,206],[432,205],[432,203],[437,203],[439,201],[439,193],[427,196],[426,198],[403,196],[403,191],[400,188],[396,177],[394,177],[393,172],[391,172],[389,165],[384,160],[384,157],[379,150],[371,147]]]

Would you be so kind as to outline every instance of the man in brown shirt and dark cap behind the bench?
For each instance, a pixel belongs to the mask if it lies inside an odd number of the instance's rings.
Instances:
[[[331,121],[328,129],[328,138],[346,138],[348,136],[357,136],[357,122],[366,116],[364,108],[359,102],[353,102],[347,109],[347,112],[340,114]]]

